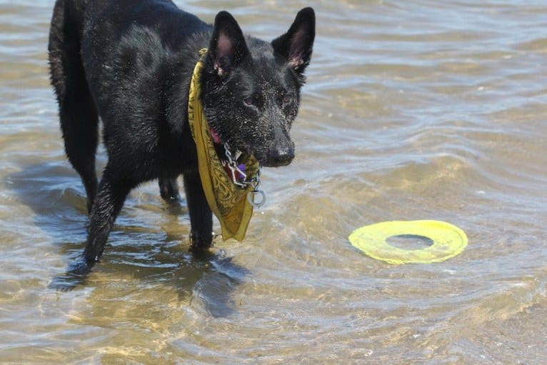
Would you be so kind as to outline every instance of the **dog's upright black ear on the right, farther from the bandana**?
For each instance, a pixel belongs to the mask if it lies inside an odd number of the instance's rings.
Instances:
[[[311,8],[298,11],[286,34],[273,39],[273,51],[285,57],[297,74],[303,74],[310,64],[313,39],[316,36],[316,16]]]

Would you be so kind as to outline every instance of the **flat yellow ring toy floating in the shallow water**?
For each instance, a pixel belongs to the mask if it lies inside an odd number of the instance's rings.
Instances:
[[[425,249],[405,250],[391,246],[393,236],[423,236],[433,241]],[[467,246],[464,231],[443,221],[385,221],[363,226],[349,236],[357,249],[389,264],[430,264],[461,254]]]

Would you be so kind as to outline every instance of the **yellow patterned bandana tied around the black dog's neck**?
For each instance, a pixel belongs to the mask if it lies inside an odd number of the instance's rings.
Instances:
[[[203,186],[207,203],[211,211],[219,219],[222,229],[222,239],[234,238],[242,241],[245,238],[253,206],[247,199],[247,194],[253,194],[254,187],[236,186],[226,173],[211,139],[209,124],[205,119],[204,109],[199,100],[201,94],[200,71],[204,66],[204,55],[207,49],[201,49],[201,59],[194,68],[188,99],[188,121],[196,149],[198,152],[198,167],[201,185]],[[254,156],[242,154],[239,163],[245,165],[247,176],[254,177],[259,171],[259,161]]]

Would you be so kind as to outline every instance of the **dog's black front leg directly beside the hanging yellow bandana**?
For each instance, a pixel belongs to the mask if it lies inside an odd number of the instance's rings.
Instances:
[[[184,174],[184,191],[190,214],[191,251],[209,249],[213,240],[213,213],[207,204],[198,171]]]

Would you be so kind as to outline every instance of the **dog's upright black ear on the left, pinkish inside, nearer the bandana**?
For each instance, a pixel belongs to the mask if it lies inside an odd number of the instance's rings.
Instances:
[[[216,14],[209,54],[219,76],[225,76],[249,54],[243,32],[228,11]]]

